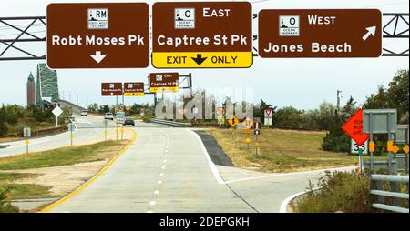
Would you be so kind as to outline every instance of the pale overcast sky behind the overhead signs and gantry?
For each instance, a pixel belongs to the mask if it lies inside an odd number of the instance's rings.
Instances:
[[[86,1],[44,1],[44,0],[2,0],[0,17],[11,16],[46,16],[46,5],[60,2]],[[141,1],[92,1],[87,2],[141,2]],[[154,1],[142,1],[152,5]],[[160,2],[160,1],[156,1]],[[168,1],[170,2],[170,1]],[[377,8],[382,13],[408,13],[409,2],[404,0],[254,0],[254,14],[261,9],[343,9]],[[24,7],[22,7],[24,6]],[[6,38],[10,32],[0,24],[0,38]],[[36,35],[44,36],[45,27],[34,28]],[[257,35],[257,26],[253,22],[253,34]],[[393,44],[394,43],[394,44]],[[387,41],[396,49],[408,49],[407,39]],[[36,55],[44,55],[46,43],[23,45]],[[0,45],[0,52],[2,50]],[[30,72],[36,77],[36,64],[42,61],[0,61],[0,103],[26,105],[26,80]],[[100,93],[101,82],[140,82],[147,81],[151,72],[178,71],[179,75],[192,74],[194,88],[212,89],[215,87],[252,88],[253,101],[261,98],[275,106],[292,105],[299,109],[313,109],[323,101],[336,103],[336,91],[342,90],[342,102],[352,95],[359,103],[374,93],[378,85],[387,85],[398,69],[408,69],[408,57],[379,58],[260,58],[255,57],[250,68],[241,69],[57,69],[60,97],[85,105],[113,105],[115,97],[103,97]],[[179,93],[180,94],[180,93]],[[172,97],[172,94],[166,94]],[[134,103],[153,103],[153,96],[126,97],[126,105]]]

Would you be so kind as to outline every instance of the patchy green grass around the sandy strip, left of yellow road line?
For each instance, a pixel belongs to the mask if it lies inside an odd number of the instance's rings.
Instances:
[[[0,191],[7,191],[7,200],[56,196],[51,192],[53,186],[50,186],[50,184],[52,185],[52,183],[47,182],[45,185],[31,184],[31,181],[42,182],[43,180],[36,180],[36,178],[44,174],[56,174],[54,170],[58,167],[68,166],[64,168],[64,171],[67,171],[67,168],[70,168],[70,166],[81,163],[87,165],[87,163],[108,161],[124,149],[128,143],[129,140],[120,142],[108,141],[87,146],[70,146],[44,152],[0,158]],[[30,171],[36,172],[36,174],[29,173]],[[76,169],[73,168],[72,171],[76,171]],[[93,174],[96,174],[96,172],[93,172]],[[78,176],[78,178],[78,182],[84,182],[85,180],[84,176]],[[61,183],[62,181],[72,179],[62,177],[54,180]],[[19,182],[25,182],[25,184]]]

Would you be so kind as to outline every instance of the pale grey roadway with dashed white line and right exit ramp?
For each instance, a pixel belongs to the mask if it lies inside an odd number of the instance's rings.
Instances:
[[[189,128],[133,129],[137,138],[105,172],[43,212],[280,212],[286,198],[324,174],[216,166]]]

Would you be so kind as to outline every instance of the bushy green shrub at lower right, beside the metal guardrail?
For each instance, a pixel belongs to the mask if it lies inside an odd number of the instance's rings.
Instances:
[[[373,196],[369,193],[369,176],[353,172],[327,172],[317,185],[310,183],[309,193],[295,201],[299,213],[370,213]],[[320,188],[313,190],[314,188]]]

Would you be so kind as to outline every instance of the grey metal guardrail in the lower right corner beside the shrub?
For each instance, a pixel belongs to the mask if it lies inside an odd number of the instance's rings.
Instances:
[[[407,199],[408,205],[408,175],[407,176],[395,176],[395,175],[372,175],[371,181],[375,184],[375,189],[370,189],[370,194],[377,196],[377,203],[373,203],[374,208],[392,211],[396,213],[409,213],[408,207],[402,206],[402,200]],[[384,190],[384,183],[390,184],[390,191]],[[405,183],[407,185],[407,193],[400,192],[399,183]],[[371,184],[372,186],[373,184]],[[385,204],[386,197],[390,197],[391,205]]]

